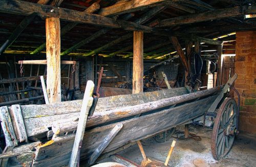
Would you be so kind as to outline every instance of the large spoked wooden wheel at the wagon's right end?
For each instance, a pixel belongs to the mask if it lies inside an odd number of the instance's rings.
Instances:
[[[233,98],[226,98],[221,104],[215,119],[211,136],[211,153],[220,160],[230,151],[237,133],[237,103]]]

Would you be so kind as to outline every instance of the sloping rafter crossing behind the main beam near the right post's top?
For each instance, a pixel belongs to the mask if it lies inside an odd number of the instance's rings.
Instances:
[[[166,8],[166,7],[162,7],[162,6],[155,7],[155,8],[153,8],[152,10],[146,12],[146,13],[145,13],[143,16],[141,16],[139,19],[137,19],[137,20],[135,21],[135,23],[143,24],[143,23],[145,23],[147,20],[151,19],[154,15],[156,15],[156,14],[159,13],[159,12],[161,12],[161,11],[162,11],[163,9],[165,9],[165,8]],[[90,51],[89,53],[83,54],[83,56],[90,56],[90,55],[99,53],[100,51],[105,50],[105,49],[107,49],[107,48],[109,48],[109,47],[111,47],[111,46],[113,46],[113,45],[116,45],[116,44],[118,44],[118,43],[120,43],[120,42],[122,42],[122,41],[124,41],[124,40],[126,40],[126,39],[129,39],[129,38],[131,38],[131,37],[133,37],[133,34],[132,34],[132,33],[131,33],[131,34],[129,33],[129,34],[123,35],[123,36],[117,38],[116,40],[114,40],[114,41],[112,41],[112,42],[110,42],[110,43],[108,43],[108,44],[105,44],[105,45],[103,45],[103,46],[101,46],[101,47],[99,47],[99,48],[97,48],[97,49],[94,49],[94,50]]]

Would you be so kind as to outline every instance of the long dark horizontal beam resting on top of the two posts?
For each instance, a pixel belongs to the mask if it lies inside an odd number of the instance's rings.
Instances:
[[[69,10],[48,5],[39,5],[20,0],[2,0],[0,1],[0,12],[30,15],[37,13],[41,17],[58,17],[62,20],[78,23],[87,23],[97,26],[112,28],[124,28],[129,31],[153,32],[151,27],[136,24],[130,21],[116,20],[114,18],[104,17],[96,14],[87,14],[75,10]],[[50,12],[49,12],[50,11]]]

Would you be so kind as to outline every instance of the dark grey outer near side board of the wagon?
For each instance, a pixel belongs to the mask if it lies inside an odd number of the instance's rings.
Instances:
[[[118,122],[123,124],[104,152],[112,151],[137,138],[151,136],[183,122],[203,115],[217,96],[207,97],[175,108],[165,109],[154,114]],[[117,123],[116,123],[117,124]],[[97,146],[116,125],[106,125],[86,131],[81,150],[81,159],[88,159]],[[33,166],[62,166],[68,165],[74,134],[61,136],[38,146],[35,152]]]

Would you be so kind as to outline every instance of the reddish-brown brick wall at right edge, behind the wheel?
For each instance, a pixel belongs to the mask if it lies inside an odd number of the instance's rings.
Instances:
[[[256,31],[237,32],[235,59],[234,86],[241,96],[239,128],[256,134]]]

